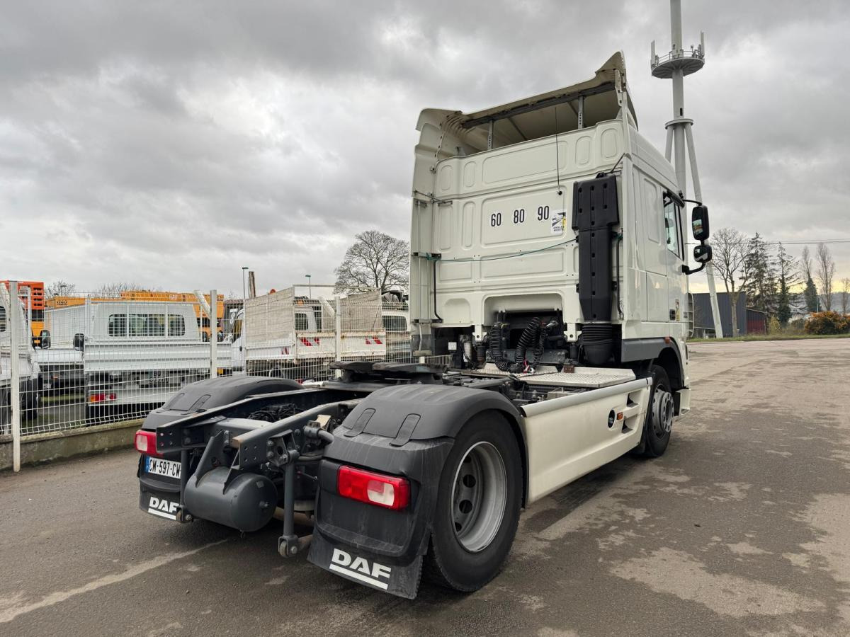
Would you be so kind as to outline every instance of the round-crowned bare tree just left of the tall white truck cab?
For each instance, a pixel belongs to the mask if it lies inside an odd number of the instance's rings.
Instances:
[[[356,239],[334,270],[337,291],[377,288],[383,294],[407,286],[411,251],[407,241],[379,230],[366,230],[357,234]]]

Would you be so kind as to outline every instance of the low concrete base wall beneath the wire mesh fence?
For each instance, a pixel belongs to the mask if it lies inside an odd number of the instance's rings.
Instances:
[[[142,420],[122,420],[108,425],[48,431],[20,439],[20,464],[39,465],[77,455],[97,454],[133,446],[133,434]],[[12,437],[0,436],[0,471],[12,468]]]

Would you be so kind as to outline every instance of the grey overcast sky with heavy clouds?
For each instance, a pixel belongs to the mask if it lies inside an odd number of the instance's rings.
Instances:
[[[685,114],[712,227],[850,238],[850,5],[683,5],[686,46],[706,31]],[[541,93],[621,49],[663,149],[653,39],[669,49],[665,0],[6,3],[0,279],[332,282],[355,233],[406,238],[423,107]],[[850,276],[850,244],[832,251]]]

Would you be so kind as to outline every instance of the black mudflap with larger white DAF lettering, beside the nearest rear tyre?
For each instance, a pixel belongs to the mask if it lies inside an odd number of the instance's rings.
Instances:
[[[321,533],[313,534],[307,559],[343,578],[409,600],[416,597],[422,575],[422,555],[414,555],[412,560],[394,560],[348,545],[337,545]]]

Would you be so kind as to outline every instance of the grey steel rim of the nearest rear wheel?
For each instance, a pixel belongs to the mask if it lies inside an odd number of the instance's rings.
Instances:
[[[505,515],[507,473],[499,450],[476,443],[467,449],[455,472],[451,526],[462,547],[471,553],[487,548]]]

